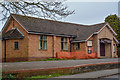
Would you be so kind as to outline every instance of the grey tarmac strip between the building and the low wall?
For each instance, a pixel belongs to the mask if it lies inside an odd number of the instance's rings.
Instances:
[[[34,70],[73,67],[85,64],[120,62],[120,58],[88,59],[88,60],[62,60],[62,61],[33,61],[33,62],[8,62],[2,64],[3,71]]]

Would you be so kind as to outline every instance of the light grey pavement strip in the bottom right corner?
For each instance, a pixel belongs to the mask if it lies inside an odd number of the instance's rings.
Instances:
[[[54,77],[54,78],[99,78],[99,77],[118,74],[118,73],[120,73],[118,69],[109,69],[109,70],[101,70],[101,71],[80,73],[80,74],[74,74],[74,75],[60,76],[60,77]],[[106,78],[109,78],[109,77],[106,77]]]

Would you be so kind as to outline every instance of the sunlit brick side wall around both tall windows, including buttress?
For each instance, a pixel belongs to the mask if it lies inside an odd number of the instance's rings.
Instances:
[[[68,51],[70,51],[70,43],[68,40]],[[56,57],[56,52],[61,51],[61,37],[47,36],[47,50],[39,49],[39,35],[29,34],[29,60],[44,59]]]

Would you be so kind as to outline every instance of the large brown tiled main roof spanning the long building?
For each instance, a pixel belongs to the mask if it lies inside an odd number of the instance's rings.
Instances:
[[[99,31],[106,24],[80,25],[16,14],[12,14],[12,17],[15,18],[29,33],[77,36],[74,41],[86,40],[90,35]]]

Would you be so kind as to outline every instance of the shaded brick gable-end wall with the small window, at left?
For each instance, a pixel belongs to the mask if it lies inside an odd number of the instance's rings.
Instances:
[[[8,25],[5,32],[9,31],[12,28],[18,28],[23,35],[25,36],[24,39],[12,39],[6,40],[6,58],[7,61],[19,61],[19,60],[27,60],[28,57],[28,34],[27,32],[15,21],[11,20],[10,24]],[[3,32],[4,33],[4,32]],[[14,49],[14,42],[19,42],[19,50]],[[2,56],[4,58],[4,41],[2,41],[3,48],[2,48]]]

